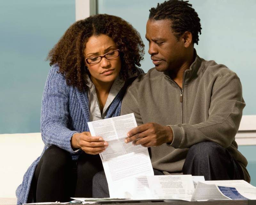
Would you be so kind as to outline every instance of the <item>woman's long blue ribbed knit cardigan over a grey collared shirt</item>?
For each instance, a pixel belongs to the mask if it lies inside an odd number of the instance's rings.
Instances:
[[[76,132],[89,131],[89,101],[87,92],[80,92],[76,87],[68,86],[65,77],[57,73],[58,65],[54,65],[49,71],[42,99],[41,109],[41,135],[45,144],[44,150],[32,165],[29,166],[23,177],[23,181],[16,190],[17,204],[31,203],[28,194],[31,181],[40,158],[44,151],[51,145],[56,145],[70,152],[72,159],[76,160],[82,153],[81,150],[74,152],[71,148],[71,137]],[[137,74],[144,73],[137,68]],[[123,88],[112,101],[106,118],[120,115],[121,103],[127,86],[131,83],[126,81]]]

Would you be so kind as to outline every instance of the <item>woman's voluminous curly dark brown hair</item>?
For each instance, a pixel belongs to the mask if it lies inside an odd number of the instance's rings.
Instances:
[[[50,66],[58,64],[59,72],[66,78],[67,84],[84,90],[85,71],[84,49],[88,39],[95,35],[105,34],[112,38],[120,50],[121,74],[124,80],[128,71],[136,72],[144,55],[144,44],[140,34],[124,19],[108,14],[97,14],[79,20],[71,25],[59,42],[49,52],[46,60]]]

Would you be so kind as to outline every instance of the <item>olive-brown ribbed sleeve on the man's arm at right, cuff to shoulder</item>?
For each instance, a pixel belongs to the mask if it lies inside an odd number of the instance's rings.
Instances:
[[[204,90],[197,92],[204,92]],[[239,128],[242,110],[245,106],[242,85],[237,75],[229,73],[220,77],[214,83],[212,96],[208,100],[210,109],[207,121],[195,125],[170,125],[174,136],[170,146],[189,148],[204,141],[218,143],[225,148],[230,146]]]

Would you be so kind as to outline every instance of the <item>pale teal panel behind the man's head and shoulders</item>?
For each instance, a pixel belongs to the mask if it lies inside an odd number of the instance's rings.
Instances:
[[[159,0],[98,0],[98,12],[124,18],[141,34],[146,45],[141,68],[147,72],[153,67],[145,39],[149,9]],[[206,60],[227,65],[240,77],[246,102],[243,114],[256,114],[256,95],[253,89],[256,76],[255,0],[190,0],[201,19],[202,35],[195,45],[197,54]]]

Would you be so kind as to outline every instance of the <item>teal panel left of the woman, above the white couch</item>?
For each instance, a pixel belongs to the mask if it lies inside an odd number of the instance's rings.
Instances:
[[[75,22],[75,0],[0,2],[0,134],[40,132],[48,51]]]

